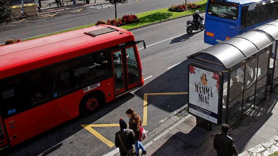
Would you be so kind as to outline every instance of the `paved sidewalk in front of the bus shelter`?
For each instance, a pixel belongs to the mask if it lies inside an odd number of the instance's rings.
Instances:
[[[230,128],[229,133],[234,139],[235,146],[240,153],[239,156],[267,156],[278,151],[277,97],[278,88],[272,94],[268,93],[267,98],[251,113]],[[163,124],[171,121],[173,124],[162,130],[163,133],[148,141],[143,141],[144,147],[148,151],[146,156],[217,155],[213,148],[213,139],[216,133],[221,133],[221,125],[213,125],[211,131],[204,130],[196,126],[196,117],[192,115],[183,118],[173,116]],[[158,127],[158,129],[161,128]]]

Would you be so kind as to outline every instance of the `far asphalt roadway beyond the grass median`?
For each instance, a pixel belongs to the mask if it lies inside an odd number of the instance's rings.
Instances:
[[[54,1],[54,0],[53,0]],[[196,0],[187,0],[193,2]],[[169,7],[173,4],[181,4],[184,0],[129,0],[128,3],[117,5],[117,17],[126,14],[138,14],[150,10]],[[96,23],[99,20],[115,18],[115,7],[111,4],[91,6],[79,9],[30,17],[23,21],[17,20],[8,25],[0,26],[0,43],[7,39],[26,39],[33,36],[49,34],[73,27]],[[53,16],[53,17],[52,17]],[[20,22],[21,21],[21,22]]]

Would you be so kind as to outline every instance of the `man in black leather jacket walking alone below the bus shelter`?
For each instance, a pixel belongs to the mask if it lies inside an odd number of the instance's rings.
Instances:
[[[238,155],[234,140],[228,135],[229,126],[223,124],[221,129],[222,133],[216,134],[213,140],[213,147],[217,151],[217,156]]]

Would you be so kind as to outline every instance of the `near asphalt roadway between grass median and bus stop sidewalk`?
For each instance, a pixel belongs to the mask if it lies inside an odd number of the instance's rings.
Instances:
[[[107,146],[81,125],[116,124],[120,117],[128,121],[125,115],[128,108],[135,109],[143,117],[144,94],[147,93],[161,95],[148,95],[147,125],[144,128],[152,131],[162,124],[187,103],[187,95],[180,94],[187,92],[189,60],[186,57],[210,47],[203,42],[203,31],[186,34],[185,22],[191,18],[191,16],[177,18],[132,30],[136,40],[145,40],[147,46],[144,49],[143,45],[138,45],[145,78],[143,87],[108,103],[92,116],[77,117],[15,146],[4,155],[99,156],[107,154],[116,147]],[[100,126],[92,129],[110,142],[114,142],[119,127]]]

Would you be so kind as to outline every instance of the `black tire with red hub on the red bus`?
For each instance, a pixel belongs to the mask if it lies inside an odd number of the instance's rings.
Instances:
[[[83,97],[79,105],[79,113],[81,116],[89,116],[97,112],[103,104],[103,98],[99,93],[89,93]]]

